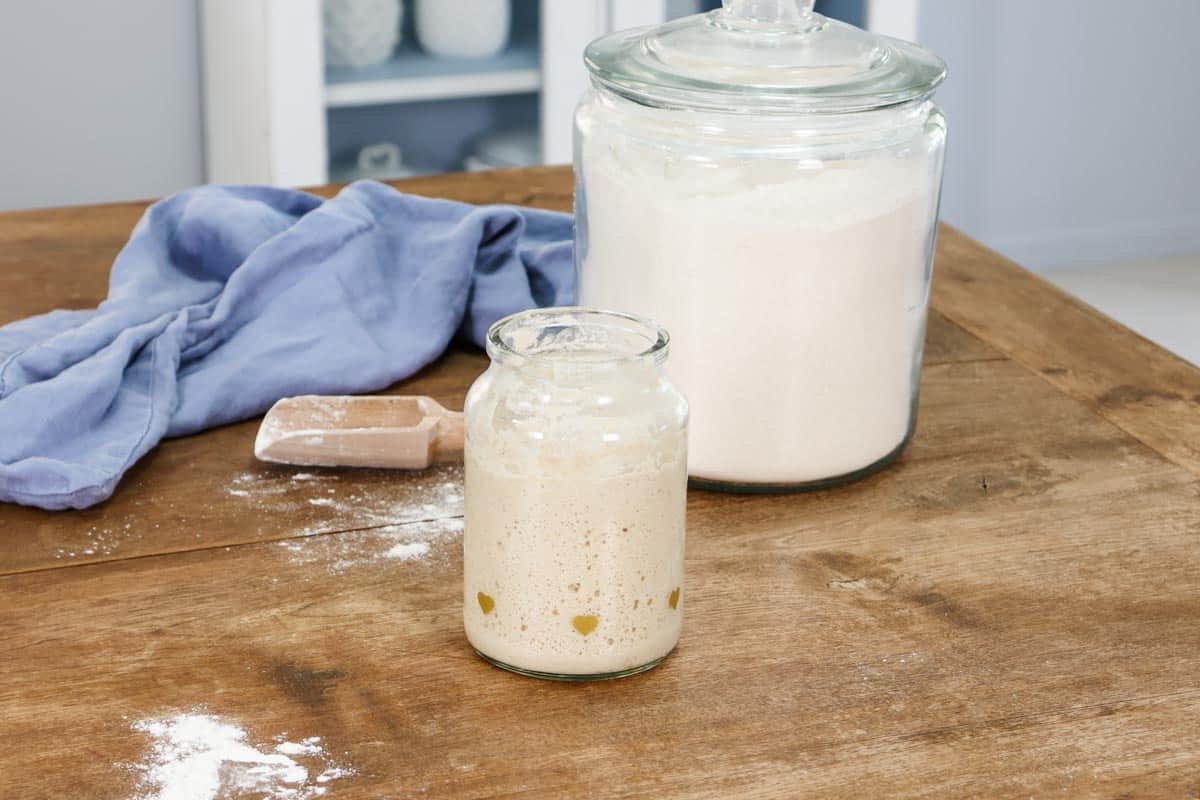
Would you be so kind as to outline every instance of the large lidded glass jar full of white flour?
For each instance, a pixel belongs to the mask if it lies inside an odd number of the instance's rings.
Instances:
[[[931,53],[725,0],[586,54],[581,302],[677,339],[700,486],[823,487],[912,435],[946,122]]]

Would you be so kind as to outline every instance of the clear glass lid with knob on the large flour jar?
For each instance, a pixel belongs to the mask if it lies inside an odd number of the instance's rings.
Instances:
[[[862,112],[930,95],[929,50],[812,11],[814,0],[724,0],[588,46],[593,79],[646,106],[768,114]]]

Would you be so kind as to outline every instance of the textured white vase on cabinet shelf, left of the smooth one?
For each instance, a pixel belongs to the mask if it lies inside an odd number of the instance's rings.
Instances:
[[[391,58],[400,42],[400,0],[324,0],[325,65],[361,70]]]

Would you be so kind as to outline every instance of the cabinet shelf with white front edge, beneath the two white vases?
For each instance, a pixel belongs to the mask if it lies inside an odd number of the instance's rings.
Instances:
[[[377,67],[326,71],[325,107],[521,95],[540,89],[540,55],[532,43],[512,44],[490,59],[440,59],[403,46]]]

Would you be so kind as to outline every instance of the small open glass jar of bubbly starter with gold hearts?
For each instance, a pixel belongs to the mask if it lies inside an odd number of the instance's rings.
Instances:
[[[679,640],[688,488],[666,331],[547,308],[493,325],[487,354],[466,404],[467,638],[538,678],[654,667]]]

